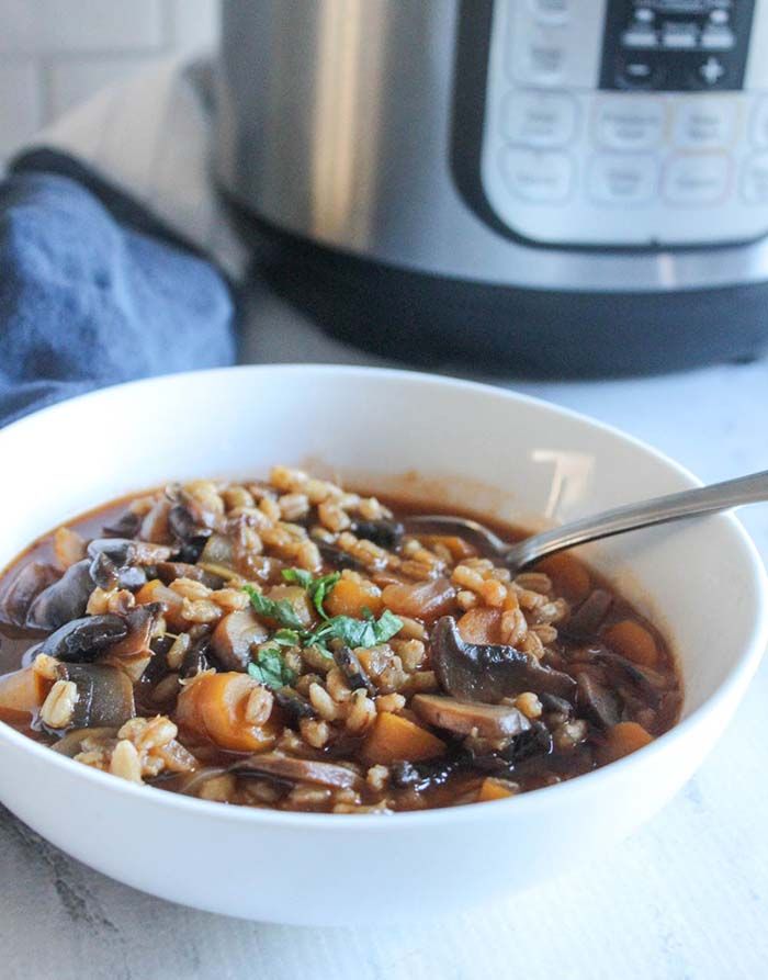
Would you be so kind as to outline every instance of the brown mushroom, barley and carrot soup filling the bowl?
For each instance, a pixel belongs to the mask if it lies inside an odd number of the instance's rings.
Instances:
[[[662,637],[587,567],[512,577],[387,504],[275,466],[59,528],[0,582],[0,719],[136,784],[331,813],[504,799],[674,723]]]

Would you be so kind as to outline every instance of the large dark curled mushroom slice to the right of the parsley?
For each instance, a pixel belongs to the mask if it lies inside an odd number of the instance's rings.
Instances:
[[[493,703],[523,690],[569,698],[576,689],[568,674],[544,667],[513,646],[465,643],[452,616],[438,620],[431,640],[438,680],[460,700]]]

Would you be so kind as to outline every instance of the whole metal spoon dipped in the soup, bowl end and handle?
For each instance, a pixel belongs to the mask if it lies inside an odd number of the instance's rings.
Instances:
[[[506,565],[517,572],[546,555],[564,551],[566,548],[575,548],[577,544],[586,544],[588,541],[598,541],[637,528],[714,514],[718,510],[739,507],[742,504],[757,504],[764,500],[768,500],[768,470],[749,476],[739,476],[737,480],[726,480],[725,483],[715,483],[712,486],[655,497],[640,504],[628,504],[594,517],[583,517],[550,531],[533,534],[518,541],[517,544],[502,541],[498,534],[476,520],[444,514],[409,517],[406,527],[409,531],[416,532],[439,527],[441,530],[451,530],[459,534],[468,532],[481,537]]]

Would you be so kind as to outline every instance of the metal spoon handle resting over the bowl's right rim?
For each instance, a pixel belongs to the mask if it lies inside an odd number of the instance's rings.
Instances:
[[[583,517],[513,544],[506,552],[505,559],[512,567],[522,568],[545,555],[576,544],[760,500],[768,500],[768,471],[656,497],[641,504],[628,504],[595,517]]]

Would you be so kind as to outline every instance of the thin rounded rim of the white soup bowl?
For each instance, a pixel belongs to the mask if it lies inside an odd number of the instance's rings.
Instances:
[[[221,375],[230,375],[235,372],[253,374],[257,376],[259,374],[270,373],[301,373],[316,374],[320,376],[334,374],[362,375],[388,379],[416,386],[427,385],[436,388],[450,387],[453,390],[474,391],[485,395],[493,395],[500,401],[527,404],[544,414],[568,418],[589,428],[602,431],[625,443],[630,443],[641,452],[651,455],[656,461],[663,463],[669,470],[670,475],[679,478],[681,483],[680,488],[702,485],[701,481],[688,469],[659,450],[648,446],[643,440],[622,431],[615,426],[599,421],[598,419],[591,418],[590,416],[572,408],[555,405],[544,398],[522,394],[510,388],[484,382],[454,378],[449,374],[430,374],[421,371],[363,367],[357,364],[238,364],[228,368],[182,371],[172,374],[161,374],[153,378],[138,379],[136,381],[122,382],[120,384],[100,387],[92,392],[87,392],[72,398],[57,402],[53,405],[47,405],[37,412],[30,413],[22,418],[15,419],[8,426],[0,428],[0,443],[7,432],[12,430],[23,430],[32,419],[47,417],[61,410],[66,412],[67,406],[72,403],[99,399],[109,402],[110,397],[122,393],[123,390],[126,388],[138,388],[143,392],[150,393],[153,387],[162,387],[173,383],[184,384],[191,378],[199,380],[208,378],[215,379]],[[755,594],[757,596],[757,608],[754,610],[755,622],[753,623],[749,640],[745,644],[743,652],[735,660],[725,678],[687,718],[637,752],[610,763],[607,766],[601,766],[600,768],[585,773],[574,779],[568,779],[554,786],[529,790],[507,800],[496,800],[494,801],[494,806],[488,806],[487,803],[485,806],[477,806],[473,802],[442,809],[399,813],[368,813],[359,820],[351,820],[350,818],[354,816],[354,814],[347,813],[294,813],[282,810],[255,809],[250,807],[229,806],[215,801],[200,800],[181,793],[163,792],[162,790],[156,790],[155,787],[146,785],[128,782],[125,779],[120,779],[109,773],[102,773],[90,766],[83,766],[67,756],[53,752],[49,746],[33,741],[27,735],[18,732],[11,725],[2,721],[0,721],[0,745],[2,742],[8,742],[11,745],[19,747],[22,752],[29,752],[32,756],[45,761],[48,765],[64,767],[63,773],[70,773],[75,779],[92,781],[97,789],[102,788],[106,791],[127,797],[128,799],[140,799],[151,808],[168,808],[169,812],[183,811],[191,816],[199,814],[202,819],[217,819],[235,823],[252,823],[255,830],[258,827],[271,826],[313,832],[327,831],[332,833],[350,833],[352,829],[354,829],[357,832],[379,834],[392,829],[406,831],[414,827],[423,827],[426,830],[430,826],[436,827],[444,823],[453,824],[466,821],[496,820],[501,814],[510,818],[516,813],[519,813],[524,818],[526,814],[535,814],[542,808],[549,808],[550,806],[562,807],[564,810],[567,810],[568,801],[575,797],[598,791],[600,784],[603,784],[607,780],[615,780],[617,777],[629,771],[632,767],[636,767],[637,765],[652,765],[655,758],[662,754],[666,754],[675,743],[680,742],[691,730],[699,728],[708,717],[715,713],[720,705],[726,702],[732,695],[736,694],[737,697],[741,697],[757,671],[765,647],[768,645],[768,575],[766,574],[765,565],[755,543],[734,514],[719,514],[714,519],[720,520],[722,523],[726,523],[731,533],[735,536],[736,540],[744,549],[745,559],[747,560],[745,562],[745,571],[746,567],[748,567],[750,579],[756,586]],[[147,792],[147,790],[151,791]]]

